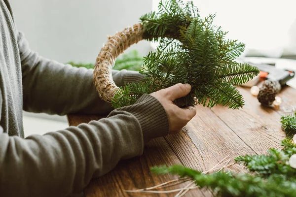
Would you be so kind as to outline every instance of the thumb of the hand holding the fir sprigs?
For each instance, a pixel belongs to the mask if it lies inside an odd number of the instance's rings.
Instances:
[[[165,91],[169,99],[174,101],[188,95],[191,91],[191,86],[189,84],[178,83],[174,86],[166,88]]]

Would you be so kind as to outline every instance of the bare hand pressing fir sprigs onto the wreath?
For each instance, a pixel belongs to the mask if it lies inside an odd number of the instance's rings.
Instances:
[[[169,134],[178,133],[195,116],[195,107],[180,108],[173,101],[185,97],[191,91],[189,84],[176,84],[151,93],[164,107],[169,119]]]

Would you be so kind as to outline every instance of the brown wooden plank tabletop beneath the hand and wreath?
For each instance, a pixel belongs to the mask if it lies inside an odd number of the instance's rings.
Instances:
[[[271,147],[279,147],[285,133],[281,130],[282,114],[291,113],[296,108],[296,90],[284,88],[279,96],[283,103],[279,108],[262,107],[249,88],[238,88],[245,99],[245,106],[232,110],[222,106],[212,109],[198,106],[196,116],[177,135],[154,139],[144,148],[141,157],[121,161],[105,176],[92,180],[85,188],[86,197],[140,196],[125,193],[155,186],[177,178],[172,175],[155,175],[149,170],[155,165],[183,164],[198,170],[208,170],[224,157],[234,158],[245,154],[266,154]],[[98,116],[69,115],[70,125],[98,120]],[[244,171],[242,165],[235,164],[231,170]],[[185,187],[183,183],[169,189]],[[169,190],[167,189],[167,190]],[[147,194],[145,196],[174,196],[174,194]],[[210,191],[194,189],[188,197],[212,196]]]

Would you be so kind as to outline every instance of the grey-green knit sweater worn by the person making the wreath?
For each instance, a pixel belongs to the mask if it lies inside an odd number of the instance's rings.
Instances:
[[[113,71],[120,86],[143,78]],[[48,114],[109,114],[77,127],[24,137],[22,110]],[[0,196],[64,197],[121,159],[139,156],[149,139],[168,133],[157,99],[111,111],[93,84],[93,70],[40,57],[14,24],[9,0],[0,0]],[[46,128],[44,128],[46,129]]]

